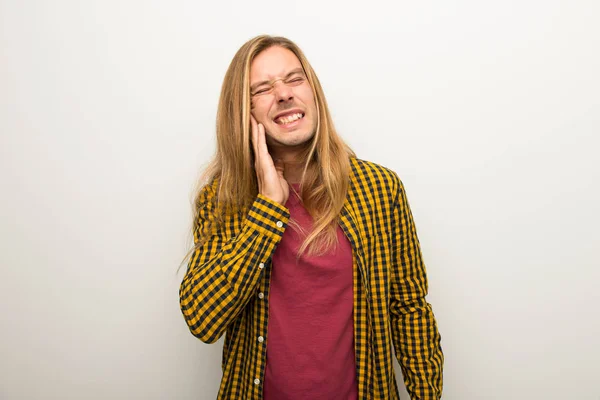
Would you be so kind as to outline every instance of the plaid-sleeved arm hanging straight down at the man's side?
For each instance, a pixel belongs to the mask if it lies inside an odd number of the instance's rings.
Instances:
[[[437,400],[442,396],[444,355],[433,311],[425,301],[427,276],[412,213],[402,182],[397,184],[390,285],[394,348],[411,399]]]

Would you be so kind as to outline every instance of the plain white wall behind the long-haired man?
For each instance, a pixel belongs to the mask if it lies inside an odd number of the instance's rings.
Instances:
[[[220,345],[187,331],[176,269],[225,69],[271,33],[406,185],[444,398],[600,399],[599,20],[595,0],[0,0],[0,398],[215,398]]]

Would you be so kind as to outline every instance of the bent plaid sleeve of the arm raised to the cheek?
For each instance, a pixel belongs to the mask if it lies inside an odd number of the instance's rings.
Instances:
[[[289,211],[258,195],[243,221],[222,221],[216,228],[214,188],[199,197],[196,249],[179,290],[180,307],[194,336],[206,343],[221,337],[246,306],[264,267],[281,241]]]

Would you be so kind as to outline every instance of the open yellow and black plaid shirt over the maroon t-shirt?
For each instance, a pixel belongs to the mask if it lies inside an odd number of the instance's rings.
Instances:
[[[377,164],[352,158],[351,166],[339,224],[353,249],[358,398],[399,398],[395,352],[411,398],[439,399],[444,356],[402,183]],[[196,241],[208,234],[216,185],[201,194]],[[270,260],[288,221],[284,206],[259,194],[246,212],[232,213],[210,232],[190,259],[179,293],[185,320],[203,342],[226,332],[218,399],[262,399]]]

